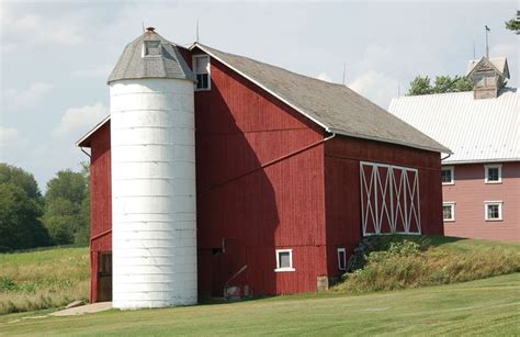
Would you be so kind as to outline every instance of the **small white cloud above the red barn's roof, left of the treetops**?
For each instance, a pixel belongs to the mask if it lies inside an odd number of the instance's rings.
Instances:
[[[355,78],[348,87],[374,103],[388,108],[392,98],[397,96],[398,81],[383,72],[369,70]]]

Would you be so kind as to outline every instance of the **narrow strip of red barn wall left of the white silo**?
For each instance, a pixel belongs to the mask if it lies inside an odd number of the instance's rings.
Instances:
[[[98,302],[98,255],[112,251],[112,187],[110,157],[110,122],[92,135],[90,158],[91,239],[90,302]]]

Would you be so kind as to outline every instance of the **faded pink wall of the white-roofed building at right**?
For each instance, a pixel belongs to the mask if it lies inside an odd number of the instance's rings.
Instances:
[[[454,166],[454,184],[443,186],[443,201],[455,202],[449,236],[520,241],[520,162],[502,162],[502,182],[485,183],[485,164]],[[502,221],[486,221],[485,201],[502,201]]]

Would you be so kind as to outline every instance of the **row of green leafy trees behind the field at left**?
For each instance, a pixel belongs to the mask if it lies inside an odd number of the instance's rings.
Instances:
[[[42,194],[34,176],[0,162],[0,251],[55,245],[86,246],[90,238],[90,172],[58,171]]]

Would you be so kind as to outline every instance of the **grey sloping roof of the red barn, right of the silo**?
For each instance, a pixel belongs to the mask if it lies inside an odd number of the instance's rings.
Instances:
[[[439,153],[450,149],[342,85],[291,72],[244,56],[195,43],[212,57],[241,74],[327,132]]]

